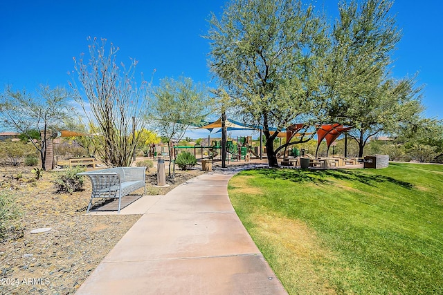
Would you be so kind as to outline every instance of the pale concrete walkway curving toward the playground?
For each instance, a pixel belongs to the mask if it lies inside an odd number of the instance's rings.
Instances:
[[[287,294],[230,204],[235,172],[123,209],[144,213],[76,294]]]

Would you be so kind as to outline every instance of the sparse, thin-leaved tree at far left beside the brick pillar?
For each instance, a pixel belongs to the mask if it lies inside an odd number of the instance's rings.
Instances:
[[[40,153],[42,169],[46,169],[46,147],[57,130],[75,112],[69,104],[70,95],[64,88],[40,86],[37,94],[13,91],[8,86],[1,95],[1,124],[26,136]],[[35,141],[35,130],[43,136]]]

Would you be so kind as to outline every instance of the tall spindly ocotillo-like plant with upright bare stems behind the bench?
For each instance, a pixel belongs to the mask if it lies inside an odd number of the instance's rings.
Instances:
[[[89,57],[85,59],[84,54],[80,59],[74,57],[81,87],[75,79],[71,87],[93,133],[101,135],[97,149],[101,160],[111,166],[130,166],[141,140],[140,133],[134,131],[143,129],[146,124],[150,83],[143,80],[143,75],[141,84],[136,83],[134,75],[138,61],[131,59],[129,68],[123,63],[120,68],[116,61],[119,48],[110,44],[106,49],[106,39],[99,41],[89,37],[89,41]]]

